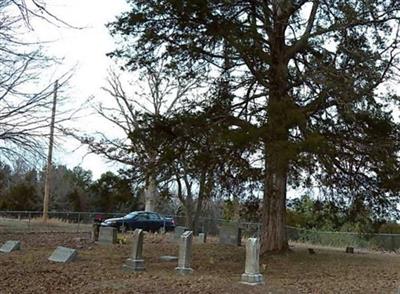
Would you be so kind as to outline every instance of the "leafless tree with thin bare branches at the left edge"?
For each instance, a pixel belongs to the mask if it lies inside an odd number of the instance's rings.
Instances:
[[[63,23],[41,1],[0,2],[0,159],[3,160],[43,156],[49,131],[54,89],[53,81],[43,82],[43,73],[56,60],[43,54],[40,43],[25,41],[32,30],[32,18]],[[68,78],[61,77],[59,88]]]

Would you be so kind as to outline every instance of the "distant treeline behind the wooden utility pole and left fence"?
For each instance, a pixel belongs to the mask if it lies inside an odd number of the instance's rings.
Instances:
[[[0,164],[0,209],[41,210],[45,172],[22,162],[10,167]],[[106,172],[93,180],[81,167],[53,166],[50,210],[125,212],[142,209],[142,199],[123,172]]]

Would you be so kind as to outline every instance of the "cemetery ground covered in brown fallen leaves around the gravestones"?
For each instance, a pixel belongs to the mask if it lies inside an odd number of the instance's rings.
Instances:
[[[296,245],[285,255],[261,260],[263,286],[239,283],[245,248],[216,242],[193,245],[194,272],[176,274],[175,262],[161,255],[177,255],[178,245],[162,235],[146,234],[146,271],[127,273],[122,264],[131,243],[100,246],[88,234],[0,234],[0,244],[20,240],[22,250],[0,254],[0,293],[397,293],[400,256],[383,253],[346,254],[338,250]],[[55,247],[78,249],[69,264],[47,260]]]

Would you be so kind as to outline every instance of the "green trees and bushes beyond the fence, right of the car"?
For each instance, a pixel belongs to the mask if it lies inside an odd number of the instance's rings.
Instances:
[[[237,213],[241,220],[259,222],[262,213],[262,201],[249,197],[238,204]],[[225,201],[224,216],[228,220],[235,218],[235,204]],[[360,234],[400,234],[397,214],[379,217],[373,208],[357,201],[344,205],[327,199],[316,199],[305,194],[290,199],[286,208],[288,226],[316,231],[355,232]]]

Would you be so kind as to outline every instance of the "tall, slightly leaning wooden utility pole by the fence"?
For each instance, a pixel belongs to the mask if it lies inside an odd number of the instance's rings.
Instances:
[[[47,222],[49,218],[49,200],[50,200],[50,184],[51,184],[50,178],[51,178],[51,167],[52,167],[51,163],[53,157],[54,121],[56,118],[57,91],[58,91],[58,80],[54,83],[53,109],[51,113],[51,123],[50,123],[49,153],[47,156],[46,180],[44,184],[43,222]]]

